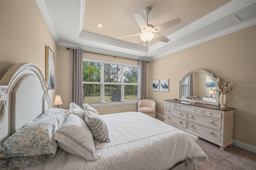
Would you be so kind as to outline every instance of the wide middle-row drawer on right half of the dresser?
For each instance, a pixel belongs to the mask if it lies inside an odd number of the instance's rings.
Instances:
[[[217,121],[214,119],[209,119],[206,117],[201,117],[198,115],[188,113],[188,120],[206,125],[208,127],[217,128],[219,130],[221,129],[221,121]]]

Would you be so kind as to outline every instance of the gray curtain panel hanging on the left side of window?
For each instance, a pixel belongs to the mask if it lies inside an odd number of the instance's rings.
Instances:
[[[72,59],[72,102],[76,103],[79,107],[83,108],[83,50],[73,49]]]

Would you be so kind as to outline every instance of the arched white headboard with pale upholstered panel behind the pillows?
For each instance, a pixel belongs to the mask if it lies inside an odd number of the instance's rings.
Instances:
[[[50,107],[48,86],[38,66],[12,66],[0,80],[0,143]]]

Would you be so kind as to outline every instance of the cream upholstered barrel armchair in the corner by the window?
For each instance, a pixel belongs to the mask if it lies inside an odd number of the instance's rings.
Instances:
[[[138,103],[138,112],[156,117],[156,102],[150,99],[142,99]]]

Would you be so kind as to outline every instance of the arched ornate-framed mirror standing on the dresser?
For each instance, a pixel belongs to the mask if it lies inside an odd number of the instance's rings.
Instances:
[[[205,70],[193,70],[180,80],[180,100],[219,105],[216,78]]]

